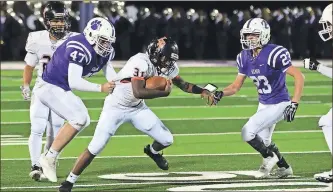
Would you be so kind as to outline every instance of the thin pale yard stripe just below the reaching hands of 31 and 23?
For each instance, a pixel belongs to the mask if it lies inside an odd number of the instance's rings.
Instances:
[[[332,103],[321,103],[320,101],[309,101],[309,102],[302,102],[301,104],[322,104],[322,105],[332,105]],[[207,106],[207,105],[201,105],[201,106],[158,106],[158,107],[149,107],[150,109],[188,109],[188,108],[251,108],[251,107],[258,107],[258,105],[219,105],[219,106]],[[90,111],[100,111],[102,110],[102,107],[97,108],[87,108]],[[1,109],[1,112],[27,112],[30,111],[30,109]]]

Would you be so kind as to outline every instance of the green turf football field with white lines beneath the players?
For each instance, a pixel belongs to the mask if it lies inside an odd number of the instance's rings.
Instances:
[[[236,70],[181,68],[180,75],[200,85],[211,82],[224,87],[235,78]],[[169,171],[159,170],[143,153],[143,147],[152,140],[130,124],[124,124],[81,175],[74,191],[331,191],[327,184],[312,177],[331,168],[332,157],[317,122],[331,108],[332,82],[319,73],[303,72],[306,83],[296,120],[280,122],[273,135],[295,177],[259,181],[253,177],[261,157],[240,135],[258,105],[257,91],[247,79],[236,96],[223,98],[216,107],[206,107],[198,95],[186,94],[176,87],[168,98],[147,100],[147,105],[174,133],[173,146],[164,150]],[[29,102],[21,97],[21,74],[21,71],[1,71],[1,190],[56,191],[76,157],[88,146],[105,94],[76,92],[88,107],[92,123],[61,154],[59,182],[35,182],[28,177]],[[102,83],[105,78],[99,74],[91,81]],[[289,77],[287,81],[293,93],[293,81]]]

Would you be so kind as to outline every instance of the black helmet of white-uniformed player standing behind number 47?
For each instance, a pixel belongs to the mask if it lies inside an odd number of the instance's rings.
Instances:
[[[61,39],[69,31],[69,14],[62,2],[49,2],[44,8],[42,16],[46,29],[54,38]]]

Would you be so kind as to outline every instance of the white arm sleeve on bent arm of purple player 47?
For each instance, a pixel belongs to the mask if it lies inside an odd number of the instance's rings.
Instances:
[[[68,84],[71,89],[79,91],[101,92],[101,85],[82,78],[83,67],[75,63],[68,65]]]

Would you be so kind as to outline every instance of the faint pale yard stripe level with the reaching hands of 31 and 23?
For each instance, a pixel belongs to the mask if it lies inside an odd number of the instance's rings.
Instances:
[[[302,96],[332,96],[332,94],[326,94],[326,93],[318,93],[318,94],[304,94]],[[247,98],[248,100],[256,99],[258,100],[258,96],[256,95],[233,95],[229,96],[229,98]],[[96,97],[80,97],[82,100],[101,100],[104,99],[105,96],[96,96]],[[168,96],[163,99],[188,99],[188,98],[199,98],[198,95],[179,95],[179,96]],[[160,98],[156,98],[155,100],[158,100]],[[1,101],[24,101],[23,99],[1,99]]]

